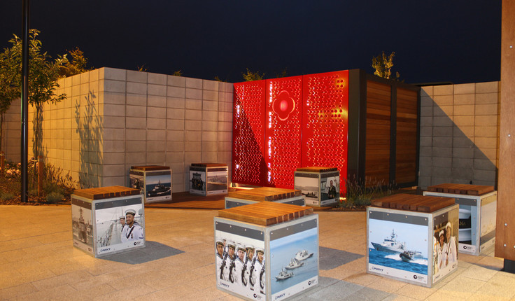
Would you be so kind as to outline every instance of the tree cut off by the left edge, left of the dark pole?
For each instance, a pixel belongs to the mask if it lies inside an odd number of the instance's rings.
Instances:
[[[3,118],[14,99],[20,97],[17,87],[17,65],[13,50],[4,48],[0,53],[0,150],[2,149]]]

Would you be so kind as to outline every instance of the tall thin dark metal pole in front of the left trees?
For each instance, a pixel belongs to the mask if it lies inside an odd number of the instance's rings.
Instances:
[[[23,22],[22,22],[22,202],[27,202],[27,154],[28,146],[28,129],[27,123],[28,105],[29,105],[29,0],[23,0]]]

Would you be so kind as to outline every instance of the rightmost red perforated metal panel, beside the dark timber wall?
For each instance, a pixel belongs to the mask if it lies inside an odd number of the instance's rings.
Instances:
[[[345,195],[348,151],[348,71],[306,75],[302,106],[302,167],[337,167]]]

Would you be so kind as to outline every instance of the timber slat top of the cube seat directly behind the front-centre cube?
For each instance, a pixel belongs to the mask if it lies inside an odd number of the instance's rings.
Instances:
[[[299,197],[300,195],[302,195],[302,190],[298,189],[260,187],[249,190],[230,191],[227,196],[241,200],[274,202],[289,199],[290,197]]]

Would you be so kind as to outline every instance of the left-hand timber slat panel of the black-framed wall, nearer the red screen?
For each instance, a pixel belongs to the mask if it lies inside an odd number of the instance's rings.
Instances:
[[[365,181],[388,183],[390,177],[391,87],[367,80]]]

